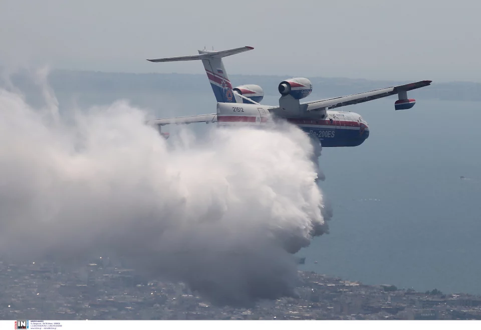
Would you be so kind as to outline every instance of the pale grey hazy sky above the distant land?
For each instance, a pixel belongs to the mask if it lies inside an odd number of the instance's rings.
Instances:
[[[145,58],[256,49],[229,73],[481,82],[479,0],[0,1],[0,64],[201,73]]]

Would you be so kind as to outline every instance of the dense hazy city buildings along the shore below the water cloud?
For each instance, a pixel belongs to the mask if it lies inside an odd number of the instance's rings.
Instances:
[[[31,319],[481,319],[479,296],[367,285],[314,271],[298,271],[291,296],[229,306],[213,305],[181,282],[146,280],[109,258],[72,269],[0,261],[0,270],[1,319],[26,313]]]

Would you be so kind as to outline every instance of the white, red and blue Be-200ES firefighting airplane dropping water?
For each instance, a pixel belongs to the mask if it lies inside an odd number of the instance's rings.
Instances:
[[[407,97],[407,91],[431,83],[431,80],[422,80],[347,96],[300,103],[300,99],[311,93],[311,81],[307,78],[290,78],[279,83],[278,89],[281,93],[279,106],[262,105],[259,103],[264,97],[262,87],[255,84],[232,87],[222,63],[222,57],[252,49],[254,48],[245,46],[221,51],[198,50],[198,55],[148,59],[151,62],[201,60],[217,99],[216,113],[153,119],[149,120],[148,124],[158,125],[160,131],[161,126],[172,123],[216,122],[218,126],[235,124],[262,126],[278,120],[287,120],[299,126],[311,135],[311,138],[318,139],[322,147],[357,146],[369,136],[367,122],[358,113],[331,109],[394,94],[398,94],[394,108],[396,110],[409,109],[414,106],[416,101]],[[168,137],[168,133],[161,132],[161,134]]]

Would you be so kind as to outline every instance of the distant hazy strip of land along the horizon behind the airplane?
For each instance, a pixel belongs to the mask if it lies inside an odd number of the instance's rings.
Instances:
[[[0,68],[0,72],[2,72]],[[5,76],[5,74],[4,74]],[[256,83],[264,88],[266,95],[277,95],[277,85],[286,75],[244,75],[230,74],[234,84]],[[18,71],[10,75],[12,82],[22,90],[32,87],[27,71]],[[367,79],[308,77],[316,91],[325,97],[357,93],[366,90],[392,86],[410,81],[382,81]],[[55,91],[89,92],[158,92],[163,91],[207,91],[209,89],[204,74],[185,73],[122,73],[100,71],[52,70],[49,81]],[[412,91],[416,97],[418,90]],[[450,101],[481,101],[481,83],[479,82],[436,82],[429,88],[422,89],[423,99]]]

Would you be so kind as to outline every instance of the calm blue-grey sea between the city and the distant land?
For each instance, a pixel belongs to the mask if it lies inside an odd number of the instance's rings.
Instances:
[[[126,98],[162,116],[215,112],[198,93],[77,95],[75,102]],[[429,87],[426,87],[429,88]],[[69,107],[71,94],[58,93]],[[311,95],[316,99],[321,94]],[[278,96],[263,103],[278,104]],[[324,148],[320,187],[332,205],[330,232],[297,254],[302,270],[366,284],[481,294],[481,102],[423,99],[394,110],[394,96],[345,111],[370,127],[360,146]],[[193,126],[193,125],[191,125]]]

